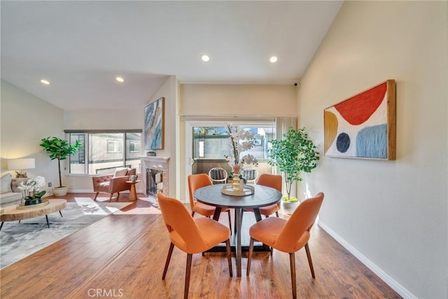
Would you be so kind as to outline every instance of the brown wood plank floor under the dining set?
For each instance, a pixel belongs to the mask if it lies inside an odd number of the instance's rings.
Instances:
[[[120,195],[126,202],[127,194]],[[92,193],[72,193],[93,198]],[[104,197],[103,199],[106,199]],[[115,199],[113,199],[115,201]],[[169,239],[150,202],[137,200],[41,251],[0,270],[0,297],[183,298],[186,253],[174,249],[162,281]],[[228,225],[227,216],[220,221]],[[233,220],[232,220],[233,221]],[[244,214],[244,227],[255,218]],[[6,223],[7,224],[7,223]],[[309,241],[316,279],[304,249],[297,251],[297,298],[401,298],[324,230],[314,225]],[[287,253],[254,252],[251,273],[229,277],[225,253],[193,255],[189,298],[292,298]]]

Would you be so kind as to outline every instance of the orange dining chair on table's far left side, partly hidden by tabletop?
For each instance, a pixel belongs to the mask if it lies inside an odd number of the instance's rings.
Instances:
[[[190,195],[191,216],[195,216],[195,212],[207,217],[213,216],[215,213],[215,207],[209,204],[203,204],[202,202],[197,202],[193,196],[195,190],[211,185],[213,185],[213,182],[207,174],[190,174],[188,176],[188,193]],[[232,223],[230,222],[230,209],[222,209],[222,211],[228,213],[229,228],[232,230]]]

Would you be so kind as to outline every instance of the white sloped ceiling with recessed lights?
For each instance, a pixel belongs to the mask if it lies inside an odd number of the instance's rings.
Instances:
[[[1,78],[64,110],[180,83],[293,84],[342,1],[1,1]],[[202,54],[210,56],[202,62]],[[276,55],[276,64],[269,57]],[[123,76],[125,83],[114,78]],[[41,78],[51,84],[43,85]]]

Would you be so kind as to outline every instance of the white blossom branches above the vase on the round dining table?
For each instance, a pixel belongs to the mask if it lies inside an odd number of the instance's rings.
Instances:
[[[226,124],[229,132],[229,141],[231,148],[231,155],[225,155],[225,160],[229,163],[230,167],[237,165],[244,166],[244,164],[258,166],[258,160],[251,154],[246,154],[239,158],[239,153],[248,151],[255,146],[255,138],[252,132],[248,130],[240,130],[238,126],[232,124]]]

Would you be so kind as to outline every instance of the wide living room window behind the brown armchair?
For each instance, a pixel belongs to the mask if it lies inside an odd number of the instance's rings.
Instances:
[[[141,130],[66,131],[70,144],[83,146],[69,158],[70,174],[113,174],[117,167],[140,169]]]

